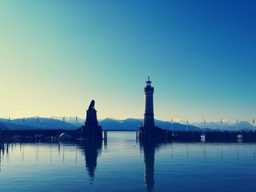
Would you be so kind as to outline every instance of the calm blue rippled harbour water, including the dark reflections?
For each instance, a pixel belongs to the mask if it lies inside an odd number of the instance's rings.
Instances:
[[[10,143],[1,150],[0,191],[256,191],[255,143]]]

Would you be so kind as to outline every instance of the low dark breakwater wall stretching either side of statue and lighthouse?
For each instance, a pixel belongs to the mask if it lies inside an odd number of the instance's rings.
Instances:
[[[103,130],[105,134],[108,131]],[[122,131],[122,130],[119,130]],[[20,139],[32,139],[32,138],[58,138],[62,133],[66,133],[72,136],[74,140],[80,138],[81,130],[1,130],[0,136],[2,140],[13,139],[16,135],[19,135]],[[256,131],[205,131],[205,139],[202,139],[202,131],[171,131],[166,130],[159,138],[159,142],[200,142],[202,140],[206,142],[256,142]],[[107,134],[106,134],[107,135]],[[134,134],[136,138],[138,134]],[[151,138],[147,138],[151,140]],[[155,139],[155,138],[154,138]]]

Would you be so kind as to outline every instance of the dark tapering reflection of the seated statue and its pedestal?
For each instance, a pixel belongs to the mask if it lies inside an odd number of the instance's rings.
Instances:
[[[102,153],[102,141],[81,141],[80,146],[85,155],[86,170],[91,178],[90,181],[93,182],[98,154]]]

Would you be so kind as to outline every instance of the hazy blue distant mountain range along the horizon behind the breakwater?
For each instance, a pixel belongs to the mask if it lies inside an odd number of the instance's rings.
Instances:
[[[143,119],[137,118],[127,118],[124,120],[117,120],[114,118],[105,118],[99,120],[98,123],[102,126],[102,130],[138,130],[138,127],[142,125]],[[5,118],[0,118],[0,128],[2,130],[76,130],[78,127],[84,125],[85,119],[75,117],[65,117],[63,118],[16,118],[9,120]],[[171,130],[186,130],[186,122],[165,122],[160,120],[155,120],[155,126],[162,129]],[[189,123],[187,126],[188,130],[202,130],[202,122]],[[206,122],[206,130],[220,130],[220,122]],[[253,130],[249,122],[238,122],[238,130]],[[237,130],[237,124],[232,122],[222,122],[222,130]]]

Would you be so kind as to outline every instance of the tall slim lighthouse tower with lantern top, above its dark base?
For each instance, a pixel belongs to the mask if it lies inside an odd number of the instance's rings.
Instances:
[[[144,102],[145,102],[145,114],[144,114],[144,128],[146,130],[154,127],[154,105],[153,105],[154,87],[151,86],[150,77],[144,87]]]

